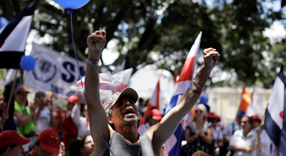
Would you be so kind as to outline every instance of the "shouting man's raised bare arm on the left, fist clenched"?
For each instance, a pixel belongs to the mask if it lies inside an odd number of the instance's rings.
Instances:
[[[86,42],[89,48],[89,60],[99,61],[102,49],[106,43],[104,38],[105,33],[106,32],[104,30],[95,31],[95,33],[88,36]],[[90,64],[87,65],[85,78],[85,95],[88,105],[90,132],[95,143],[95,151],[97,155],[103,155],[107,147],[104,144],[100,133],[106,142],[109,142],[110,136],[107,116],[100,101],[99,95],[99,66],[93,66]]]

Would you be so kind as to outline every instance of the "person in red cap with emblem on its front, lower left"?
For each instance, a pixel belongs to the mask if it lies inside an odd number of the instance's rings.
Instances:
[[[46,129],[38,136],[31,151],[25,152],[22,156],[52,156],[59,154],[60,137],[53,129]]]

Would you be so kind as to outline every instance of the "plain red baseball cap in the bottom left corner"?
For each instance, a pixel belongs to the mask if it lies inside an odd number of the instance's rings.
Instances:
[[[0,148],[4,148],[12,144],[25,145],[29,142],[30,139],[23,138],[13,130],[7,130],[0,133]]]

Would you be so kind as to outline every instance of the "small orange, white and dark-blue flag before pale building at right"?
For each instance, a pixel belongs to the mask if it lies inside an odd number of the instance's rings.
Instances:
[[[243,91],[241,94],[240,106],[238,108],[238,114],[244,114],[246,116],[252,117],[256,115],[256,111],[252,105],[251,93],[245,91],[245,87],[243,87]]]

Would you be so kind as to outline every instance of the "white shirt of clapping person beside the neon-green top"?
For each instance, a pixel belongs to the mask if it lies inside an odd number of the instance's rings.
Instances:
[[[35,113],[39,111],[39,107],[36,108]],[[39,134],[43,130],[53,128],[50,126],[50,109],[46,106],[40,113],[36,122],[36,134]]]

